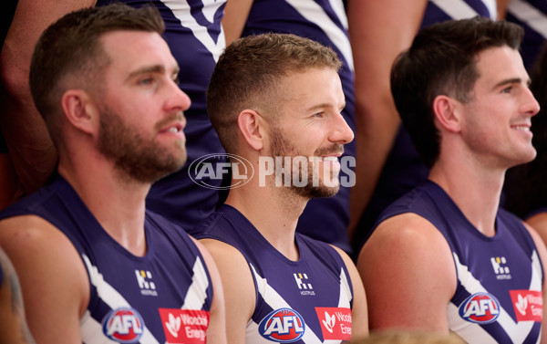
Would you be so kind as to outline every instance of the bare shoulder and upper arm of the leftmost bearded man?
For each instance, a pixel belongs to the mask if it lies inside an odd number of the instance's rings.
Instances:
[[[79,319],[88,307],[88,274],[67,236],[35,215],[15,216],[0,222],[0,245],[19,276],[36,342],[81,342]]]

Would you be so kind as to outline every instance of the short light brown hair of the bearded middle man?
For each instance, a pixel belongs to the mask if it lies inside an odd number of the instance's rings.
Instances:
[[[226,47],[207,89],[207,110],[222,145],[236,152],[237,118],[254,109],[275,121],[284,78],[310,68],[332,68],[342,62],[330,47],[286,34],[246,36]]]

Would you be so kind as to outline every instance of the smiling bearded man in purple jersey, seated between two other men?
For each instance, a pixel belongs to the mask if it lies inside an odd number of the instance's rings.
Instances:
[[[230,343],[340,343],[367,334],[356,266],[340,249],[295,233],[312,197],[338,191],[337,158],[353,140],[340,114],[340,66],[330,48],[269,34],[236,40],[214,69],[212,124],[226,151],[259,174],[194,229],[221,272]]]

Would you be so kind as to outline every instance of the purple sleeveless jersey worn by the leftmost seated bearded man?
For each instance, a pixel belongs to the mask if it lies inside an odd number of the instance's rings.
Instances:
[[[178,226],[147,212],[148,252],[131,255],[61,177],[0,218],[25,214],[67,235],[86,266],[90,296],[80,319],[83,343],[205,343],[211,279],[198,247]]]

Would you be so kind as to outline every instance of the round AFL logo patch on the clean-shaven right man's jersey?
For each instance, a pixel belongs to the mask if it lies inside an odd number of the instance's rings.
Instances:
[[[500,316],[500,302],[490,293],[476,293],[459,306],[459,317],[476,324],[490,324]]]

